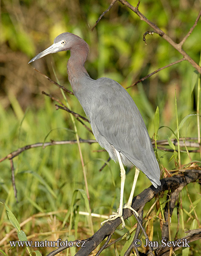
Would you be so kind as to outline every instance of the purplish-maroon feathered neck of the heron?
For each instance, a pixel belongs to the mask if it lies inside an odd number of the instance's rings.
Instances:
[[[84,67],[89,52],[89,47],[85,41],[84,43],[85,44],[79,44],[74,46],[73,49],[70,49],[71,57],[68,61],[67,70],[69,82],[73,91],[76,90],[76,87],[79,86],[79,84],[81,84],[81,81],[90,79],[89,74]]]

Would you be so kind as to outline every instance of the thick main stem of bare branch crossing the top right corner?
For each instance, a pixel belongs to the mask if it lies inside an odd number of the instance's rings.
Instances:
[[[149,26],[151,26],[154,29],[154,32],[160,35],[162,38],[164,38],[169,44],[172,45],[178,52],[181,53],[181,55],[184,56],[184,59],[187,60],[200,74],[201,74],[201,67],[192,59],[190,56],[182,49],[181,44],[176,44],[172,38],[170,38],[164,31],[158,28],[154,23],[152,23],[150,20],[148,20],[141,12],[138,10],[138,6],[134,7],[132,6],[129,2],[126,0],[118,0],[120,3],[124,4],[127,6],[129,9],[131,9],[133,12],[135,12],[138,17],[140,17],[141,20],[145,21]],[[198,15],[199,19],[199,15]],[[181,41],[182,42],[182,41]]]

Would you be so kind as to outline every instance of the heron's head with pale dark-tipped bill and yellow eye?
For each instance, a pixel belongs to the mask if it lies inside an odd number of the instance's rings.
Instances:
[[[67,51],[71,50],[72,48],[78,49],[79,47],[85,47],[88,50],[88,45],[82,38],[72,33],[65,32],[58,35],[54,40],[54,44],[32,58],[29,63],[36,61],[49,53]]]

